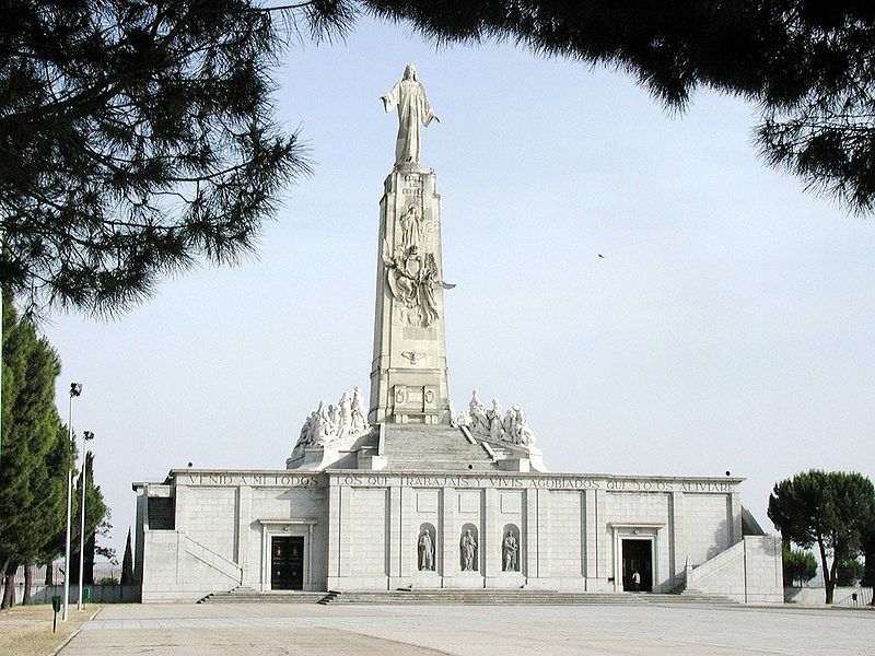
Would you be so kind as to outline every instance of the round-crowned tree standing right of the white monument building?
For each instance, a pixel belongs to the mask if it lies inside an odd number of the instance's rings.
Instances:
[[[875,525],[875,489],[859,473],[812,469],[775,483],[769,518],[784,540],[817,546],[826,602],[832,604],[839,563],[860,554]]]

